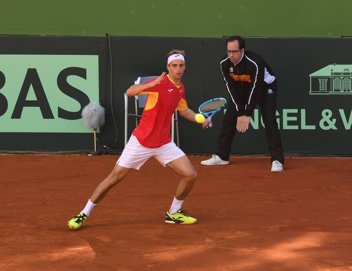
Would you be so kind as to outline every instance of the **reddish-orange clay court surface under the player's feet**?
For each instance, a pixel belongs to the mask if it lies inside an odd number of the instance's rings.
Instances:
[[[0,270],[352,269],[352,159],[205,158],[182,206],[197,224],[164,223],[178,175],[152,158],[74,232],[117,157],[0,155]]]

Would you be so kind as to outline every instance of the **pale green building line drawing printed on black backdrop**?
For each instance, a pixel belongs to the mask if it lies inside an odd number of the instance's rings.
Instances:
[[[352,65],[332,64],[313,72],[309,94],[352,94]]]

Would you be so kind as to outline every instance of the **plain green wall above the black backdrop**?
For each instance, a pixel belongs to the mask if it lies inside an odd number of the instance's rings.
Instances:
[[[351,0],[0,0],[2,35],[352,37]]]

